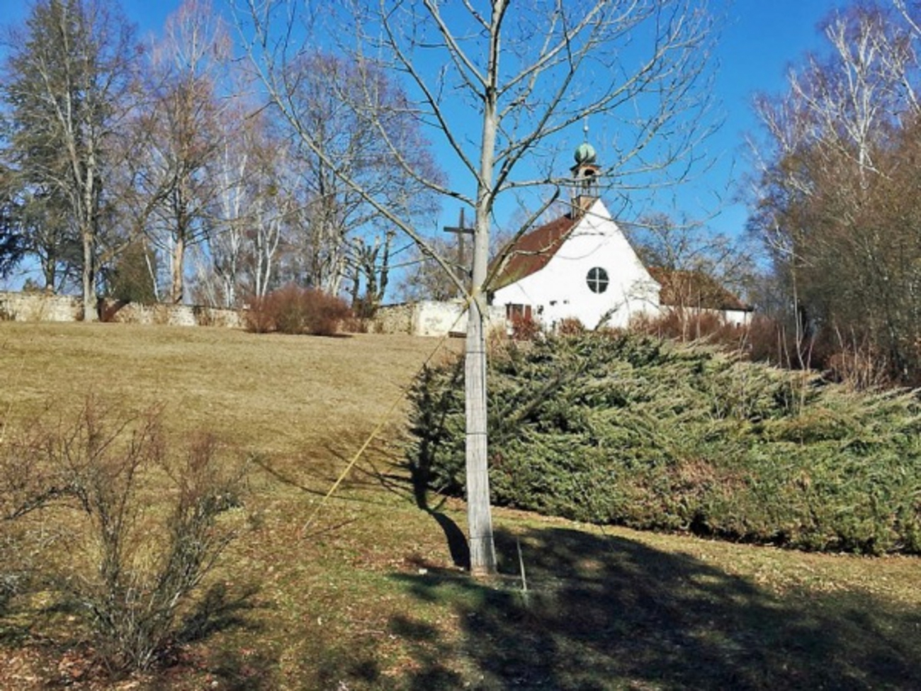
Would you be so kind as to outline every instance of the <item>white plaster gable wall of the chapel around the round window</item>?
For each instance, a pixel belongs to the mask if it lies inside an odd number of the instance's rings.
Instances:
[[[589,289],[587,277],[594,267],[608,272],[603,293]],[[493,304],[502,309],[531,305],[534,317],[546,326],[568,317],[594,328],[612,310],[605,323],[625,327],[638,314],[659,313],[659,284],[598,200],[541,271],[496,290]]]

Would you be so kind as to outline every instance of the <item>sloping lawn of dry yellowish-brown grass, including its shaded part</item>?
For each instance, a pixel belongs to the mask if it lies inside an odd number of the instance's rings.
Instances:
[[[175,659],[107,678],[76,617],[30,598],[0,611],[0,688],[921,687],[915,558],[496,510],[504,575],[468,579],[455,564],[462,505],[419,509],[402,468],[402,392],[435,345],[0,323],[6,434],[92,394],[114,410],[162,406],[176,444],[207,430],[251,458],[245,505],[227,516],[239,536],[185,613],[195,626]]]

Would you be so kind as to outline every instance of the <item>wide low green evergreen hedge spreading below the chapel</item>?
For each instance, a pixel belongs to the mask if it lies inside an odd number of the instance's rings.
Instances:
[[[461,361],[415,381],[417,484],[462,495]],[[921,400],[636,334],[509,345],[495,505],[808,550],[921,552]]]

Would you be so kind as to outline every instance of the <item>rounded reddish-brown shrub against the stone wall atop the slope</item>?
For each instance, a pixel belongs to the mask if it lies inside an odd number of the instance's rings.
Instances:
[[[344,299],[294,284],[264,298],[253,299],[247,310],[247,330],[256,334],[313,334],[330,336],[352,317]]]

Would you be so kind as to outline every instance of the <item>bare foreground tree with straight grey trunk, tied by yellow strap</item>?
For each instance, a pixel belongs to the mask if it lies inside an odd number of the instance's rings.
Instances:
[[[712,21],[692,0],[378,0],[349,11],[327,4],[250,0],[241,34],[274,107],[308,148],[350,190],[395,228],[426,248],[452,274],[450,262],[426,242],[424,228],[364,190],[323,150],[292,98],[289,66],[311,41],[339,41],[335,50],[374,64],[406,89],[402,106],[441,152],[449,181],[417,170],[409,151],[367,108],[366,91],[343,94],[367,128],[389,148],[410,181],[472,209],[472,282],[465,354],[467,499],[471,568],[495,572],[489,509],[484,313],[488,251],[496,205],[507,193],[536,189],[533,218],[560,196],[566,182],[557,155],[569,149],[585,118],[610,133],[601,146],[609,179],[647,185],[650,174],[689,165],[704,135],[705,84]],[[686,169],[682,169],[686,170]],[[681,175],[681,172],[676,172]],[[659,182],[661,182],[661,178]],[[456,208],[456,205],[454,206]]]

